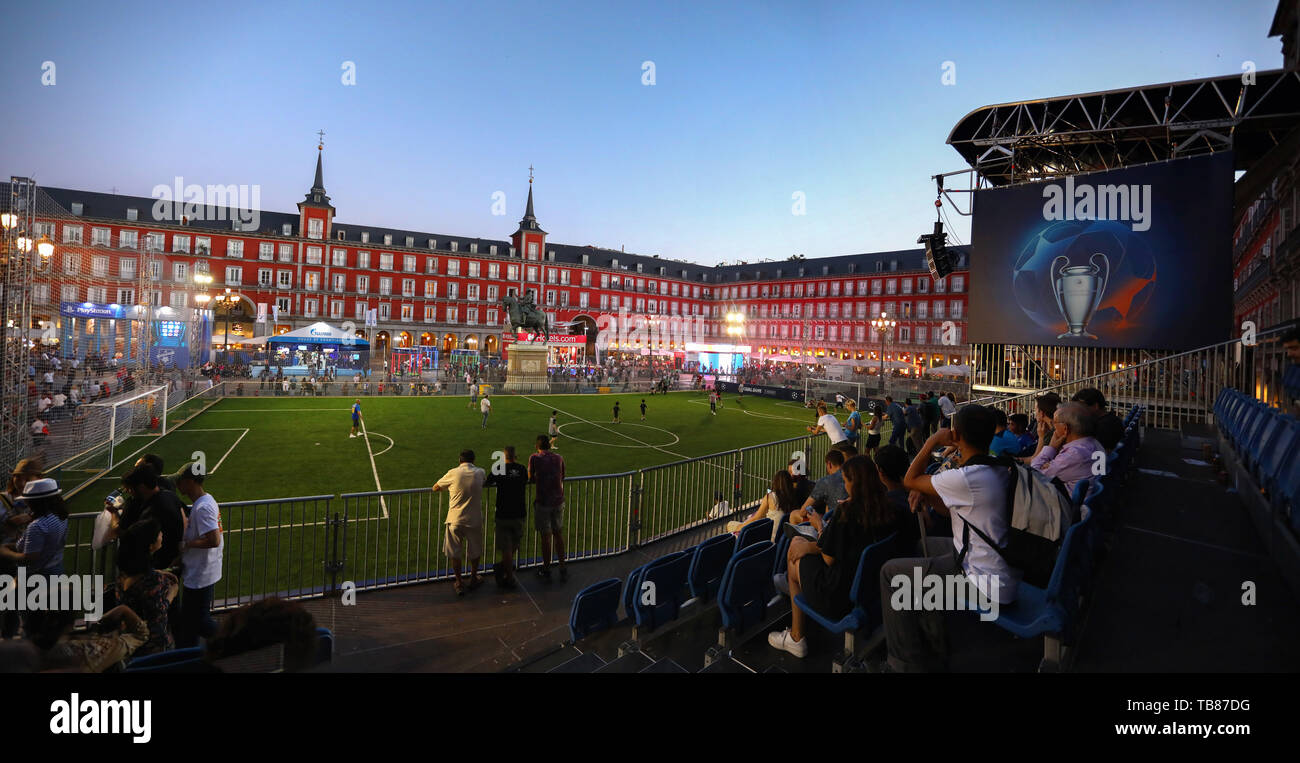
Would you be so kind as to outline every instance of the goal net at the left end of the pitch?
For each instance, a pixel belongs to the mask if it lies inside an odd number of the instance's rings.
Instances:
[[[58,472],[64,491],[70,493],[122,465],[152,438],[166,434],[166,386],[84,403],[70,419],[51,426],[44,460],[56,464],[51,471]]]

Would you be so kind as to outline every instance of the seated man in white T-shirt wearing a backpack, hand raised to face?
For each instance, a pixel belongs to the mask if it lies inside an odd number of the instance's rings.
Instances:
[[[953,417],[952,429],[940,429],[930,437],[904,477],[904,486],[911,491],[913,511],[918,511],[922,503],[928,503],[939,513],[952,517],[953,537],[926,538],[923,556],[893,559],[880,568],[881,612],[889,647],[887,669],[948,669],[945,611],[897,606],[893,601],[893,581],[897,576],[914,580],[916,575],[922,578],[928,575],[961,575],[979,590],[979,601],[987,597],[997,602],[996,606],[1015,601],[1020,573],[979,533],[966,532],[966,523],[971,523],[998,546],[1006,543],[1010,529],[1006,506],[1010,474],[994,467],[967,465],[972,458],[988,454],[994,428],[996,421],[989,408],[966,406]],[[956,446],[961,454],[958,467],[927,474],[930,454],[949,446]],[[945,585],[944,590],[953,590],[953,586]],[[967,602],[975,593],[974,589],[968,590],[971,593],[966,595]],[[956,604],[957,602],[945,602],[944,610],[956,608]]]

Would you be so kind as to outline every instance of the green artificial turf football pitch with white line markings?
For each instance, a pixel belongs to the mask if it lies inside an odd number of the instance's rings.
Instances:
[[[641,421],[640,403],[646,402]],[[640,481],[640,539],[702,521],[722,495],[736,503],[733,459],[728,451],[807,435],[815,413],[800,403],[727,395],[718,415],[705,393],[668,395],[498,395],[488,428],[478,404],[467,396],[364,396],[365,437],[350,438],[352,398],[225,398],[162,437],[136,437],[117,446],[109,476],[78,491],[70,511],[98,512],[140,452],[160,455],[168,472],[203,452],[205,489],[221,504],[289,497],[377,490],[428,489],[458,463],[462,448],[490,469],[493,452],[512,445],[519,460],[534,451],[538,434],[558,412],[556,452],[567,477],[646,469]],[[621,424],[615,424],[614,403]],[[840,411],[841,421],[845,412]],[[885,425],[888,430],[888,424]],[[888,437],[888,432],[884,433]],[[824,452],[826,435],[810,439]],[[798,443],[772,446],[746,458],[740,482],[744,500],[766,491],[772,472],[785,465]],[[701,459],[712,454],[728,454]],[[810,456],[812,454],[809,454]],[[688,465],[675,461],[699,459]],[[810,458],[809,474],[823,469]],[[660,467],[660,468],[655,468]],[[567,486],[566,537],[569,556],[598,555],[628,542],[630,477]],[[225,580],[217,598],[244,598],[321,585],[328,558],[344,555],[346,580],[399,580],[445,571],[442,517],[446,494],[428,493],[316,503],[224,508]],[[347,504],[348,528],[335,538],[328,515]],[[491,493],[485,494],[485,559],[497,558]],[[521,558],[538,556],[537,534],[525,533]],[[70,569],[92,565],[88,517],[69,528]]]

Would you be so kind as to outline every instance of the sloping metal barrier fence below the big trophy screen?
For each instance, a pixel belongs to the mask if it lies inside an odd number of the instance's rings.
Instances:
[[[1183,422],[1206,424],[1213,416],[1214,399],[1223,387],[1240,390],[1270,404],[1283,399],[1282,373],[1287,360],[1279,339],[1284,330],[1261,331],[1249,344],[1238,338],[1131,364],[1114,361],[1114,370],[971,402],[994,406],[1009,413],[1032,413],[1039,395],[1056,393],[1069,400],[1084,387],[1096,387],[1113,408],[1144,406],[1145,426],[1178,429]]]

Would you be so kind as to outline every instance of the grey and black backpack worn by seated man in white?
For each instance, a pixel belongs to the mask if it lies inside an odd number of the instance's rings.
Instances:
[[[1006,545],[998,546],[979,528],[962,517],[962,556],[970,550],[970,530],[975,530],[998,556],[1019,569],[1024,582],[1046,588],[1056,568],[1061,541],[1078,515],[1065,484],[1057,477],[1026,467],[1008,458],[975,456],[966,465],[987,465],[1008,469],[1011,481],[1006,486],[1008,523]],[[961,558],[958,558],[958,564]]]

